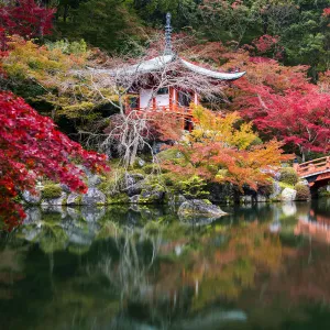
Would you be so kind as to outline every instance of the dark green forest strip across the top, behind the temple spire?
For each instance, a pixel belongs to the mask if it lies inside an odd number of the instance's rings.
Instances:
[[[111,19],[105,10],[108,7]],[[90,14],[90,8],[99,11]],[[130,37],[141,40],[143,33],[138,28],[162,26],[169,11],[177,31],[194,32],[199,40],[234,41],[237,46],[258,40],[255,46],[260,54],[290,65],[308,64],[317,78],[319,70],[328,68],[329,8],[329,0],[62,0],[56,29],[62,36],[85,37],[96,46],[113,50],[128,40],[123,34],[119,37],[119,29],[128,31],[133,25],[135,33]],[[77,29],[73,29],[74,23]]]

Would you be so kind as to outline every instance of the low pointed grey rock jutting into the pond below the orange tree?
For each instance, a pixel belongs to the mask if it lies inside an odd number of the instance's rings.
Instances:
[[[183,218],[189,217],[208,217],[208,218],[220,218],[226,216],[218,206],[206,202],[201,199],[187,200],[182,204],[178,209],[178,216]]]

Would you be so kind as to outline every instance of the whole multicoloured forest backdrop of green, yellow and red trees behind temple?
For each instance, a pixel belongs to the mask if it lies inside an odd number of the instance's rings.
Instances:
[[[2,59],[3,89],[22,96],[77,141],[82,141],[78,131],[89,130],[91,122],[116,110],[95,94],[63,88],[69,69],[99,66],[114,57],[134,62],[134,57],[139,61],[141,56],[158,55],[163,41],[160,33],[166,12],[170,12],[176,52],[220,70],[248,72],[246,78],[224,88],[222,101],[212,105],[216,110],[240,111],[263,138],[285,141],[286,151],[302,160],[328,152],[329,0],[1,3],[2,58],[7,54]],[[6,42],[14,34],[33,42]],[[62,54],[55,54],[56,50]],[[65,76],[62,80],[61,70]],[[261,106],[253,96],[262,97],[264,103]],[[274,109],[265,110],[270,105]],[[297,117],[301,121],[293,120]]]

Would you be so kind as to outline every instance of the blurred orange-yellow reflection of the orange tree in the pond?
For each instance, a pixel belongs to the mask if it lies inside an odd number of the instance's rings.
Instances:
[[[279,268],[282,245],[278,237],[267,233],[266,224],[244,224],[226,234],[223,245],[210,244],[219,237],[216,230],[205,242],[209,249],[200,251],[187,274],[188,280],[198,285],[194,298],[197,309],[215,299],[237,299],[242,289],[254,286],[257,272]]]

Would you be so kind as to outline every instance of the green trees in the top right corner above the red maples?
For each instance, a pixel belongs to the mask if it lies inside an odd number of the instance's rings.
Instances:
[[[310,65],[314,80],[329,66],[329,0],[204,0],[198,7],[204,24],[197,28],[218,41],[251,43],[262,35],[276,36],[287,65]]]

